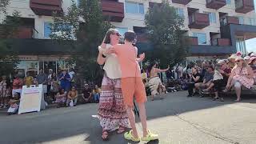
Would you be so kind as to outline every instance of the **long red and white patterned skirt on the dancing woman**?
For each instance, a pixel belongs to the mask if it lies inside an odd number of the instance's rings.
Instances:
[[[121,90],[121,79],[102,79],[98,118],[103,130],[117,130],[119,126],[130,128]]]

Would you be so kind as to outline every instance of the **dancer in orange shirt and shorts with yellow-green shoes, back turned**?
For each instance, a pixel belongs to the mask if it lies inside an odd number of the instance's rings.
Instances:
[[[153,134],[150,130],[147,130],[146,126],[146,91],[144,84],[142,82],[142,74],[138,62],[145,58],[145,54],[140,54],[140,58],[137,58],[138,49],[133,46],[135,40],[135,33],[133,31],[128,31],[125,34],[125,44],[115,45],[106,50],[107,54],[115,53],[118,56],[118,61],[121,66],[122,78],[121,87],[124,103],[126,105],[126,111],[130,121],[130,126],[132,130],[126,132],[124,137],[128,140],[134,142],[140,141],[151,141],[158,139],[158,134]],[[142,122],[143,137],[138,137],[138,132],[135,126],[134,117],[134,98],[138,103],[140,119]]]

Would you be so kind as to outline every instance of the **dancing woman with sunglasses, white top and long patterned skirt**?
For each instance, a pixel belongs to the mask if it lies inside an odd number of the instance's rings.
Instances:
[[[102,79],[102,91],[99,99],[98,118],[102,126],[102,139],[108,139],[108,132],[117,130],[122,134],[130,127],[126,107],[122,98],[121,90],[121,69],[118,58],[115,54],[104,55],[104,51],[110,46],[118,44],[120,39],[118,30],[110,29],[106,33],[102,45],[98,46],[97,62],[100,65],[105,63],[105,70]]]

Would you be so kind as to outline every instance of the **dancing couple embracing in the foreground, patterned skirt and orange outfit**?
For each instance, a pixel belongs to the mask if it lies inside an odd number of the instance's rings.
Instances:
[[[158,134],[151,133],[146,126],[146,91],[138,66],[145,54],[137,58],[138,49],[133,46],[136,35],[133,31],[126,32],[125,44],[118,44],[120,36],[118,30],[110,29],[98,47],[97,62],[100,65],[105,63],[98,108],[102,139],[107,140],[110,131],[118,129],[118,134],[122,134],[130,126],[132,130],[124,134],[127,140],[139,142],[158,139]],[[135,126],[134,98],[142,122],[142,138],[138,136]]]

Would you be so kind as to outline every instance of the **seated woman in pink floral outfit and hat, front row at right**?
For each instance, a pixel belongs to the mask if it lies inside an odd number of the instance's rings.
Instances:
[[[236,102],[241,101],[241,87],[245,86],[250,89],[254,85],[254,72],[250,66],[246,66],[246,63],[242,57],[235,59],[236,66],[232,69],[230,78],[226,84],[226,90],[230,90],[234,86],[235,93],[237,95]]]

